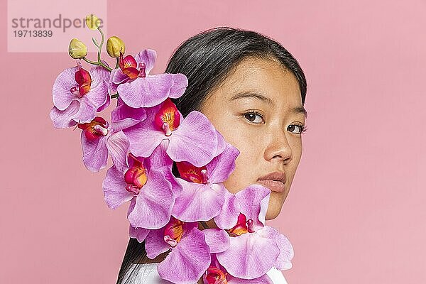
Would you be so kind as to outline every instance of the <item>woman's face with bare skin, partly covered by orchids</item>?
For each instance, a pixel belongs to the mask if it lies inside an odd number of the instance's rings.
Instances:
[[[306,117],[295,75],[275,61],[246,58],[200,111],[240,151],[225,187],[232,193],[252,184],[270,187],[266,219],[277,217],[302,155],[300,126]],[[284,184],[259,180],[273,172],[285,173]]]

